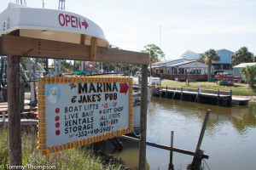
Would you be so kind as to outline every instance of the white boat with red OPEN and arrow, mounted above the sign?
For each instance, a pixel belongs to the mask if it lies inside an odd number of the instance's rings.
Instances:
[[[19,31],[20,37],[84,45],[96,41],[96,47],[109,47],[100,26],[84,16],[67,11],[9,3],[8,8],[0,14],[0,24],[0,36]]]

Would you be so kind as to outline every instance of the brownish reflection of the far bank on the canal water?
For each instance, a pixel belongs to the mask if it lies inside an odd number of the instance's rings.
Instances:
[[[154,114],[160,107],[164,107],[164,110],[179,112],[179,115],[186,116],[187,118],[197,118],[201,122],[204,120],[207,109],[210,109],[211,116],[207,124],[209,130],[214,130],[215,127],[219,127],[219,124],[231,122],[237,132],[243,135],[247,133],[248,127],[256,127],[256,105],[254,103],[242,106],[221,107],[177,99],[153,98],[150,105],[149,114]]]

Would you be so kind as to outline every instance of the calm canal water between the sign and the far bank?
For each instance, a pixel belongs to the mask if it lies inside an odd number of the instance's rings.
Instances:
[[[210,169],[256,169],[256,103],[246,106],[220,107],[153,97],[148,108],[147,140],[170,145],[174,131],[174,147],[193,150],[201,132],[207,109],[211,115],[201,149],[209,155]],[[138,144],[123,141],[124,150],[116,153],[125,166],[137,169]],[[147,146],[147,168],[167,169],[169,151]],[[193,156],[174,152],[175,169],[186,169]],[[205,169],[207,168],[205,163]]]

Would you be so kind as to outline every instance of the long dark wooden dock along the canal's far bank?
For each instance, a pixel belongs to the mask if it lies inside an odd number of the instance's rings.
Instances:
[[[203,90],[195,88],[154,88],[153,96],[168,99],[180,99],[209,105],[230,107],[232,105],[247,105],[250,99],[232,97],[232,91]]]

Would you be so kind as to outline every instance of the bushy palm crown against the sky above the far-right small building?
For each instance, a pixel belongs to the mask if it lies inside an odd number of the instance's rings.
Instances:
[[[242,47],[231,56],[230,64],[239,65],[241,63],[253,62],[253,60],[253,53],[249,52],[248,48]]]

